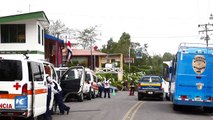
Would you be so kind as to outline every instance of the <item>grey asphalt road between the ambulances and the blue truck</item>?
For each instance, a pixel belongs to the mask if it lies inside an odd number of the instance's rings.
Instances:
[[[119,91],[111,98],[96,98],[83,102],[67,102],[69,115],[52,115],[53,120],[213,120],[213,114],[199,108],[173,111],[169,101],[137,100],[128,92]],[[57,111],[59,112],[59,111]]]

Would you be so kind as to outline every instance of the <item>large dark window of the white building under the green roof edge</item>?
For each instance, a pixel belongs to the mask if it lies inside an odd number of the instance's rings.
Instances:
[[[2,24],[1,43],[25,43],[25,24]]]

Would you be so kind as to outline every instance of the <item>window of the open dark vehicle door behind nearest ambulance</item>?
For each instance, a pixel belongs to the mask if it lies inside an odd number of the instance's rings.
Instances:
[[[61,80],[76,80],[81,79],[82,69],[70,68],[63,76]]]

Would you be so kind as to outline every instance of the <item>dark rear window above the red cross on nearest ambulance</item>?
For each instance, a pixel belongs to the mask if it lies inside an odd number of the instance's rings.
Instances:
[[[0,81],[22,80],[22,63],[18,60],[0,60]]]

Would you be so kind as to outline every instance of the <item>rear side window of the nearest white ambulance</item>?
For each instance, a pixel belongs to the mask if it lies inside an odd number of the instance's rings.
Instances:
[[[43,81],[44,79],[44,68],[41,63],[30,62],[29,64],[29,79],[32,81]]]

